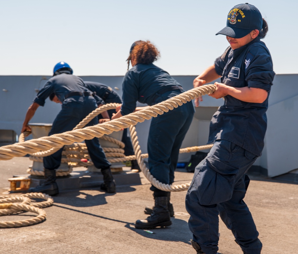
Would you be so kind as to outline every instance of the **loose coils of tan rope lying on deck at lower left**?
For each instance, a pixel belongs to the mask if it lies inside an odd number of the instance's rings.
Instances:
[[[46,201],[31,204],[32,198],[44,199]],[[44,221],[46,219],[46,212],[41,208],[52,206],[53,203],[54,201],[51,196],[43,193],[25,193],[21,195],[0,196],[0,216],[15,214],[21,211],[30,211],[38,214],[38,216],[30,219],[18,221],[1,221],[0,228],[24,227]]]

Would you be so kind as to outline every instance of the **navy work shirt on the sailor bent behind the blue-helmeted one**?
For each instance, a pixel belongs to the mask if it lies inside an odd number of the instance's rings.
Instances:
[[[93,81],[84,81],[84,86],[87,87],[90,91],[96,92],[96,95],[98,95],[103,100],[103,103],[101,104],[111,101],[111,98],[112,101],[115,103],[122,103],[119,94],[105,84]]]

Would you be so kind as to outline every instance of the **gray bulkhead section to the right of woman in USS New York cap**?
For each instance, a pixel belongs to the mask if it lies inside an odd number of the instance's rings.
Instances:
[[[260,166],[273,177],[298,168],[298,74],[275,75],[269,107],[265,149]],[[297,172],[298,173],[298,172]]]

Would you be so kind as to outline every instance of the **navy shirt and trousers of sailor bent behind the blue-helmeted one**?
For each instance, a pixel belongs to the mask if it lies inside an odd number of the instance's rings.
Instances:
[[[100,98],[103,99],[105,104],[108,103],[122,103],[122,100],[117,92],[115,92],[111,87],[108,87],[104,84],[98,83],[98,82],[92,82],[92,81],[84,81],[85,87],[87,87],[90,91],[96,92],[96,95],[98,95]],[[116,113],[116,109],[110,109],[108,110],[108,115],[111,119],[113,116],[113,113]],[[102,118],[101,115],[99,115],[99,118]],[[131,138],[128,134],[128,129],[125,128],[123,130],[122,134],[122,140],[121,140],[125,147],[124,147],[124,154],[125,156],[134,155],[134,148],[131,143]]]

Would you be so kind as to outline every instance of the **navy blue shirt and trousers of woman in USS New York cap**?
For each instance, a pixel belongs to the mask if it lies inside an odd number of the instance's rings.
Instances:
[[[270,92],[274,71],[266,45],[255,39],[245,46],[230,47],[215,60],[221,83],[254,87]],[[193,240],[204,253],[218,251],[218,215],[243,251],[259,254],[262,243],[243,198],[249,185],[247,170],[261,155],[267,128],[268,96],[263,103],[240,101],[230,95],[212,117],[207,157],[195,169],[186,195]]]

